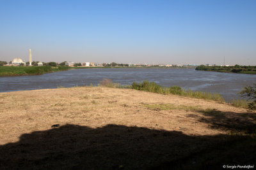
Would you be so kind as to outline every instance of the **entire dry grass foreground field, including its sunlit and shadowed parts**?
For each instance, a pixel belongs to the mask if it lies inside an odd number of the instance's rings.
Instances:
[[[0,106],[0,169],[221,169],[256,162],[256,113],[226,103],[74,87],[0,93]]]

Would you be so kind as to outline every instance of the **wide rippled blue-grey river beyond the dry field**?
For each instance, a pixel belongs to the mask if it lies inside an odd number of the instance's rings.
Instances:
[[[104,78],[121,85],[133,81],[155,81],[164,87],[178,85],[184,89],[219,92],[226,101],[239,98],[237,92],[245,85],[256,83],[256,74],[218,73],[195,69],[113,68],[73,69],[36,76],[0,77],[0,92],[53,89],[98,85]]]

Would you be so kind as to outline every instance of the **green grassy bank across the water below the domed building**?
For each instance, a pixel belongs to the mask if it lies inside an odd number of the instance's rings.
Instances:
[[[51,73],[55,71],[65,71],[70,69],[66,66],[2,66],[0,67],[0,76],[24,76]]]

